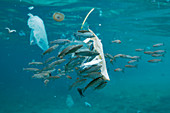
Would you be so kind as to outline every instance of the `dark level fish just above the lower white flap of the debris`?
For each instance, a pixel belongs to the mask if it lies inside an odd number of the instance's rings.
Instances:
[[[75,55],[79,56],[97,56],[99,55],[98,52],[94,52],[94,51],[88,51],[88,50],[85,50],[85,51],[78,51],[78,52],[75,52]]]

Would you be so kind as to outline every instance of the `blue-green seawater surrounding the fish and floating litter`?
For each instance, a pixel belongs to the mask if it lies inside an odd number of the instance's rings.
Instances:
[[[76,88],[68,90],[73,83],[69,79],[45,86],[23,71],[28,62],[42,59],[42,50],[29,42],[28,13],[44,21],[48,40],[53,41],[71,39],[92,8],[87,23],[99,35],[104,53],[139,55],[137,68],[114,72],[128,60],[118,59],[113,65],[107,60],[111,80],[101,90],[87,91],[84,98]],[[62,12],[65,19],[54,21],[54,12]],[[170,113],[169,0],[0,0],[0,15],[0,113]],[[8,33],[6,27],[17,32]],[[115,39],[122,43],[111,43]],[[164,43],[159,49],[167,51],[160,63],[148,63],[151,56],[135,51],[157,50],[152,47],[156,43]],[[68,95],[72,107],[66,104]]]

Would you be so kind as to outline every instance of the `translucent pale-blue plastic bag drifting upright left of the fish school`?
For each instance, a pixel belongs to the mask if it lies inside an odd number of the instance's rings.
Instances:
[[[31,13],[28,16],[30,16],[28,26],[31,28],[30,45],[37,44],[43,51],[47,50],[49,45],[43,20],[38,16],[33,16]]]

